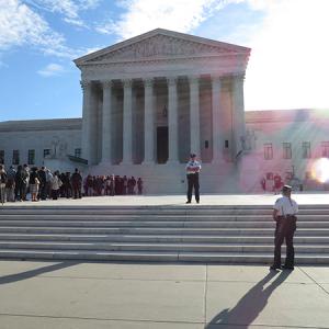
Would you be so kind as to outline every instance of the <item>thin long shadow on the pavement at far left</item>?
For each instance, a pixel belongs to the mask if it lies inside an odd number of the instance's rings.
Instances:
[[[43,266],[43,268],[29,270],[29,271],[21,272],[21,273],[1,276],[0,284],[8,284],[8,283],[13,283],[13,282],[31,279],[31,277],[39,275],[39,274],[61,270],[65,268],[73,266],[76,264],[78,264],[78,262],[65,261],[65,262],[60,262],[60,263],[56,263],[56,264],[52,264],[52,265],[47,265],[47,266]]]

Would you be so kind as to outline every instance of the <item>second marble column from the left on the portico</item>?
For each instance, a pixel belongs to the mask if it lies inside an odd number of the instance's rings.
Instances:
[[[103,83],[103,109],[102,109],[102,162],[112,161],[112,81]]]

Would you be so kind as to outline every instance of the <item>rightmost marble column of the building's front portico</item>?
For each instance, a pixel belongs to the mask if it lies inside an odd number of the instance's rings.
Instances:
[[[245,148],[246,121],[243,103],[243,76],[232,78],[232,129],[234,129],[234,160]]]

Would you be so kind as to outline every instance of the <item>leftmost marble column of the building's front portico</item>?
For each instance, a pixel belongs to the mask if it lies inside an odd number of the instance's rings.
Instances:
[[[88,164],[92,162],[91,151],[91,81],[81,81],[81,88],[83,92],[83,104],[82,104],[82,131],[81,131],[81,149],[82,158],[88,160]]]

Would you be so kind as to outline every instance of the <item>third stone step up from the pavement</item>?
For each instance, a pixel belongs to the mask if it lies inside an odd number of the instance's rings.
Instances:
[[[82,234],[0,234],[0,241],[92,241],[92,242],[201,242],[201,243],[269,243],[273,236],[184,236],[184,235],[82,235]],[[329,243],[329,237],[294,238],[296,243]]]

